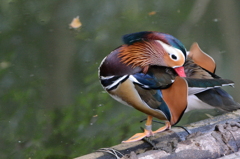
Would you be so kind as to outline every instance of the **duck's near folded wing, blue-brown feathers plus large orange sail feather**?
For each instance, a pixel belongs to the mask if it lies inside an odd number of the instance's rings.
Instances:
[[[151,109],[163,112],[171,125],[181,119],[187,107],[188,86],[174,70],[150,67],[146,74],[136,73],[130,79],[141,99]]]

